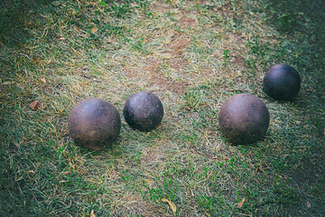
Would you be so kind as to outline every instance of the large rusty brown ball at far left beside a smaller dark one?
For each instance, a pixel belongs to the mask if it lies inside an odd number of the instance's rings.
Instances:
[[[116,108],[104,99],[84,99],[71,109],[68,118],[70,137],[78,146],[102,150],[116,141],[121,118]]]

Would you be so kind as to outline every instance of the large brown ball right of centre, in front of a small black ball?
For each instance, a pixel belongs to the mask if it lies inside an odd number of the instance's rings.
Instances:
[[[236,144],[251,144],[265,136],[270,116],[265,103],[242,93],[229,98],[218,116],[221,133]]]

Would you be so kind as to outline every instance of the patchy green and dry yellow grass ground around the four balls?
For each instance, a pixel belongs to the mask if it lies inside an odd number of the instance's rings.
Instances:
[[[323,216],[324,10],[321,1],[1,2],[0,215]],[[261,88],[280,62],[302,76],[292,101]],[[122,114],[140,90],[162,99],[160,127],[143,133],[122,118],[102,152],[71,141],[67,118],[81,99],[107,99]],[[250,146],[218,129],[220,106],[241,92],[271,115]]]

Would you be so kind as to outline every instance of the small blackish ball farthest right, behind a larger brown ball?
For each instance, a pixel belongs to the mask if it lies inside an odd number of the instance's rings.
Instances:
[[[294,98],[301,89],[299,72],[287,64],[278,64],[266,72],[263,90],[273,99],[288,100]]]

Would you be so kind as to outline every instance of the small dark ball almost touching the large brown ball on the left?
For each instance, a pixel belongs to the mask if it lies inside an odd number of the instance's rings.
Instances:
[[[163,103],[151,92],[137,92],[125,101],[123,115],[130,127],[150,131],[163,119]]]

